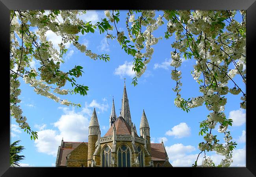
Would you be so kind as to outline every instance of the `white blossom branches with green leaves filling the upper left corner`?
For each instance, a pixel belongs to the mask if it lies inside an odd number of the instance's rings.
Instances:
[[[79,44],[77,34],[81,31],[81,26],[85,26],[79,15],[84,11],[78,10],[15,10],[10,15],[10,113],[21,128],[29,128],[26,123],[26,117],[22,116],[22,110],[18,103],[21,90],[20,79],[23,77],[25,83],[34,87],[37,94],[46,96],[61,104],[70,105],[71,102],[61,100],[50,92],[50,84],[56,84],[58,87],[54,90],[57,94],[66,95],[68,90],[60,89],[67,82],[67,73],[60,70],[60,62],[63,62],[60,55],[66,50],[65,44],[72,43],[80,52],[85,53],[92,59],[97,59],[99,55],[88,50],[84,44]],[[59,13],[57,15],[57,13]],[[106,15],[110,16],[110,12]],[[37,31],[30,31],[30,27],[37,27]],[[113,26],[112,26],[113,28]],[[20,32],[23,30],[23,35]],[[24,32],[25,31],[25,32]],[[46,32],[52,31],[62,37],[58,44],[59,50],[54,48],[51,41],[47,41]],[[21,44],[22,41],[23,44]],[[62,53],[62,54],[61,54]],[[65,53],[65,52],[64,52]],[[37,72],[31,67],[32,59],[40,63]],[[18,68],[14,72],[15,66]],[[35,79],[40,77],[40,79]],[[54,88],[52,88],[54,89]]]

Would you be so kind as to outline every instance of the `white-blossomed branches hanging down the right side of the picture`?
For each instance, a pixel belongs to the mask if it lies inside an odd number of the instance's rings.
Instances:
[[[232,153],[228,146],[232,136],[227,132],[228,124],[222,125],[222,122],[226,120],[223,111],[227,99],[224,95],[228,92],[231,94],[242,92],[237,88],[238,86],[228,87],[228,82],[234,82],[232,79],[236,75],[240,75],[243,82],[246,83],[246,12],[240,11],[240,13],[243,17],[241,23],[233,18],[236,11],[179,10],[174,13],[166,10],[163,15],[168,20],[167,34],[171,36],[175,33],[176,40],[171,44],[175,49],[175,52],[171,52],[173,59],[171,66],[175,67],[171,75],[172,79],[176,81],[173,90],[177,92],[174,104],[184,109],[184,103],[186,103],[185,107],[193,108],[201,106],[205,102],[206,108],[213,112],[204,121],[204,126],[214,129],[220,123],[218,131],[225,134],[224,140],[227,144],[226,146],[217,144],[219,140],[215,139],[211,133],[206,133],[204,140],[207,143],[200,143],[198,148],[201,151],[216,151],[226,156]],[[224,19],[229,19],[228,23],[222,22]],[[191,75],[200,84],[199,91],[203,94],[203,96],[192,98],[190,101],[181,98],[179,94],[181,91],[180,75],[176,68],[180,67],[180,61],[175,60],[176,57],[179,58],[177,55],[182,53],[187,55],[188,52],[191,52],[196,60]],[[241,100],[240,107],[246,109],[245,93]],[[181,103],[183,106],[180,106]],[[214,143],[211,147],[209,144],[213,140]],[[210,159],[205,159],[202,166],[213,166],[211,162]],[[226,157],[220,165],[229,166],[231,163],[232,159]]]

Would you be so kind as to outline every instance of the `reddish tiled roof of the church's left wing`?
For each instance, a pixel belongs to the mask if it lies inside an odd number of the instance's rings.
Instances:
[[[72,152],[76,147],[78,147],[83,142],[63,142],[63,146],[60,148],[59,151],[59,161],[58,166],[66,166],[67,165],[67,155]],[[88,145],[88,142],[84,142]],[[65,144],[72,144],[72,148],[65,148]]]

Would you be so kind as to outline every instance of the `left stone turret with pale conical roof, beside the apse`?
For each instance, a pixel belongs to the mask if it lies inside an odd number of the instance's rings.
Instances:
[[[89,134],[88,134],[88,158],[87,166],[91,166],[91,161],[93,159],[93,153],[95,151],[95,143],[98,139],[98,131],[100,130],[100,125],[98,123],[97,114],[95,108],[93,110],[93,115],[91,116],[89,124]]]

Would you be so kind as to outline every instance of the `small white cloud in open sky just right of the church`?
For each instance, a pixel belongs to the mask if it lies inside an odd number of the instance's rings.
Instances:
[[[190,131],[191,128],[185,122],[182,122],[175,125],[172,130],[168,130],[165,135],[174,136],[174,138],[183,138],[189,136],[191,134]]]

